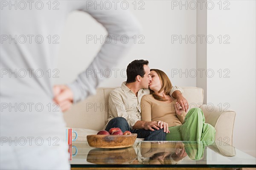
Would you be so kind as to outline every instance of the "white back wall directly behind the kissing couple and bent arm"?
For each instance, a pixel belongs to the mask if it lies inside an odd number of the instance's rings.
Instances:
[[[112,71],[110,78],[107,78],[101,87],[120,86],[126,80],[127,65],[134,59],[147,59],[150,68],[160,68],[169,77],[172,77],[172,70],[179,71],[186,68],[196,68],[196,44],[180,44],[179,40],[172,43],[172,35],[196,34],[196,11],[180,11],[179,8],[170,10],[171,1],[144,1],[145,4],[137,2],[136,10],[134,1],[129,1],[128,10],[137,17],[143,27],[141,35],[145,37],[144,44],[134,44],[128,54]],[[143,6],[142,6],[143,5]],[[142,6],[144,10],[138,10]],[[73,12],[67,20],[66,28],[61,36],[61,49],[58,56],[58,74],[60,78],[55,79],[56,84],[73,81],[76,76],[86,69],[92,61],[101,43],[93,41],[86,43],[86,35],[106,35],[105,29],[97,23],[90,15],[83,12]],[[142,40],[137,38],[137,40]],[[114,51],[113,51],[114,52]],[[183,74],[175,74],[171,79],[172,84],[180,86],[196,86],[196,78],[186,78]]]

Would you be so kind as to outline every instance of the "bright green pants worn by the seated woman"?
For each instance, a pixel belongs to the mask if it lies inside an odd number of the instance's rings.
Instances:
[[[187,113],[184,123],[179,126],[169,127],[170,133],[166,134],[167,141],[204,141],[207,145],[215,141],[215,129],[205,123],[204,113],[200,108],[192,108]]]

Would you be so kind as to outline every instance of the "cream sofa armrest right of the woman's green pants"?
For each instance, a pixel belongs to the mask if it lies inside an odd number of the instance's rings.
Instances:
[[[204,112],[205,122],[215,127],[215,141],[223,141],[226,144],[232,145],[236,112],[220,111],[218,106],[209,109],[207,105],[201,105],[200,108]]]

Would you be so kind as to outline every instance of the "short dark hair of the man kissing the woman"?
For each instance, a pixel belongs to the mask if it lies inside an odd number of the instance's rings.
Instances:
[[[144,65],[148,65],[148,60],[144,59],[135,59],[132,61],[126,69],[127,74],[127,83],[135,82],[137,75],[140,75],[141,77],[144,76]]]

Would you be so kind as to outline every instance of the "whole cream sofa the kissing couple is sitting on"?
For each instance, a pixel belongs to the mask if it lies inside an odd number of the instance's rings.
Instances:
[[[113,88],[97,88],[97,94],[90,96],[84,101],[73,105],[72,108],[64,113],[67,127],[72,127],[78,132],[77,140],[86,140],[87,135],[96,134],[102,130],[108,119],[108,97]],[[223,141],[232,145],[233,125],[236,112],[219,111],[215,106],[212,110],[211,105],[202,105],[204,90],[196,87],[183,87],[183,96],[189,102],[189,108],[200,107],[205,116],[205,122],[216,129],[216,141]]]

